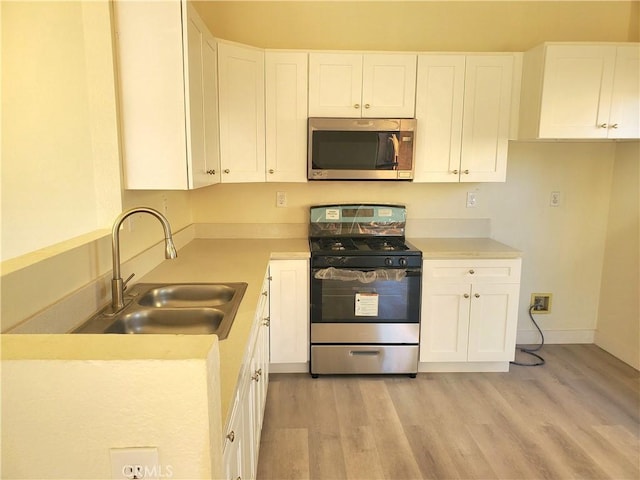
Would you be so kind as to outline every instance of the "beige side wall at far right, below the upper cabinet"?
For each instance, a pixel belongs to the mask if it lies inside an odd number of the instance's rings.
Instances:
[[[640,143],[621,143],[600,288],[596,343],[640,370]]]

